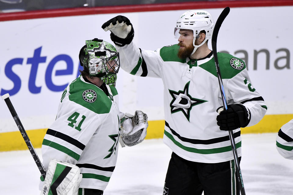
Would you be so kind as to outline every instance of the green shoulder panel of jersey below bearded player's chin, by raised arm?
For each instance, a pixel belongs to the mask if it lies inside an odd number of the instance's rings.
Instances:
[[[177,56],[179,51],[179,45],[168,45],[165,47],[162,47],[160,49],[160,56],[163,59],[164,62],[181,62],[185,63],[186,59],[181,59]]]

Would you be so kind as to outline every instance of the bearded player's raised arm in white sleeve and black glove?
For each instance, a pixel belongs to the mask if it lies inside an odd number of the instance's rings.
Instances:
[[[116,44],[120,55],[121,68],[132,75],[161,77],[160,49],[144,50],[132,42],[134,29],[125,16],[116,16],[102,25],[103,30],[111,31],[111,40]]]

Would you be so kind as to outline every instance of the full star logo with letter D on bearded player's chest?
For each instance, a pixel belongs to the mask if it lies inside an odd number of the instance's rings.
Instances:
[[[206,100],[192,98],[190,94],[188,94],[189,83],[190,81],[186,83],[183,91],[179,90],[178,92],[176,92],[176,91],[169,90],[173,98],[170,103],[171,114],[182,111],[188,121],[190,118],[191,108],[195,105],[199,105],[206,102]]]

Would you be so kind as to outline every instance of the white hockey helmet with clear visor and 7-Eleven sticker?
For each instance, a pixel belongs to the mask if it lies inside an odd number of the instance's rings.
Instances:
[[[208,39],[212,39],[212,34],[214,30],[214,20],[211,14],[204,10],[190,10],[183,13],[180,18],[176,22],[176,27],[174,29],[174,36],[175,38],[179,38],[179,30],[180,29],[189,29],[193,30],[194,39],[193,39],[193,46],[194,52],[197,50],[198,47],[203,45]],[[198,38],[199,33],[204,30],[205,31],[205,39],[200,45],[195,45],[195,39]]]

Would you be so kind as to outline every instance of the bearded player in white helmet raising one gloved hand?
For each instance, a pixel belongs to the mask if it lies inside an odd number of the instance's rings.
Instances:
[[[240,159],[240,127],[257,124],[267,107],[252,87],[244,62],[218,53],[229,104],[227,111],[218,114],[222,99],[213,54],[207,44],[214,28],[212,16],[204,10],[183,13],[174,31],[179,43],[156,51],[138,48],[132,42],[134,29],[125,16],[110,19],[102,28],[111,31],[122,69],[163,80],[163,141],[173,151],[164,194],[239,194],[226,130],[233,130]]]

